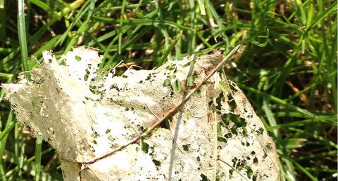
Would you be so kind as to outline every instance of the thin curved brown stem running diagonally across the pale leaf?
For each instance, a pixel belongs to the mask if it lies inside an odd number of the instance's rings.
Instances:
[[[225,58],[223,58],[223,60],[221,62],[218,63],[218,65],[211,70],[211,72],[203,79],[203,81],[201,81],[195,88],[193,88],[186,96],[184,96],[184,98],[182,99],[182,101],[177,104],[175,107],[173,107],[173,109],[170,109],[167,114],[165,114],[160,120],[158,120],[156,123],[154,123],[153,126],[151,126],[151,128],[149,128],[149,130],[147,130],[146,132],[142,133],[141,135],[133,138],[132,140],[130,140],[129,142],[127,142],[125,145],[122,145],[120,147],[117,147],[116,149],[112,150],[111,152],[108,152],[102,156],[99,156],[95,159],[92,159],[90,161],[72,161],[70,159],[63,159],[65,161],[70,161],[70,162],[74,162],[74,163],[87,163],[87,164],[91,164],[94,163],[96,161],[99,161],[101,159],[104,159],[108,156],[111,156],[113,154],[115,154],[115,152],[120,151],[121,149],[124,149],[125,147],[127,147],[128,145],[137,142],[137,140],[144,138],[146,135],[149,135],[149,133],[151,133],[151,131],[153,131],[155,128],[158,127],[158,125],[160,125],[163,121],[165,121],[165,119],[168,119],[169,116],[174,115],[177,110],[185,104],[185,102],[187,102],[189,100],[190,97],[192,97],[192,94],[196,92],[196,90],[198,90],[201,86],[204,85],[204,83],[206,83],[206,81],[208,81],[208,79],[210,79],[211,76],[213,76],[213,74],[215,74],[215,72],[217,72],[217,70],[222,67],[222,65],[229,59],[232,57],[232,55],[234,55],[234,53],[236,53],[236,51],[238,51],[238,49],[240,48],[240,45],[237,45],[234,49],[232,49],[232,51],[230,51],[230,53],[228,53]],[[62,159],[62,158],[61,158]]]

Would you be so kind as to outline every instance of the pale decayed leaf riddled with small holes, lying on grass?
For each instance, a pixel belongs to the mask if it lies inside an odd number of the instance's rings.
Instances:
[[[182,102],[219,52],[122,76],[96,74],[101,57],[92,49],[74,48],[63,60],[45,51],[32,81],[22,75],[2,86],[18,120],[56,149],[65,180],[279,180],[273,141],[224,74],[127,144]]]

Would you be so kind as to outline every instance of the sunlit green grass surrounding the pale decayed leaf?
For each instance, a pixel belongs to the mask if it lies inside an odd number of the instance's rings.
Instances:
[[[104,71],[241,44],[227,76],[274,138],[281,179],[337,180],[337,1],[231,2],[0,1],[1,83],[49,49],[99,48]],[[53,149],[18,124],[3,90],[0,101],[1,180],[61,180]]]

